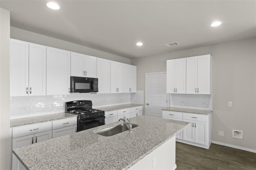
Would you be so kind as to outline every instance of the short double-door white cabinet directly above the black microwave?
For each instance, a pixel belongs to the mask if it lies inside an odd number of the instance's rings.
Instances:
[[[71,76],[97,77],[97,57],[71,52]]]

